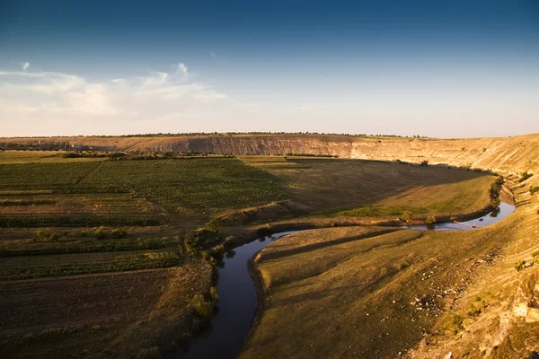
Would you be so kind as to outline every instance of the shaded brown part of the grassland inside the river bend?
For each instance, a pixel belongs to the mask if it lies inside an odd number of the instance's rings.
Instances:
[[[277,165],[261,168],[284,180],[296,195],[296,201],[315,210],[376,203],[412,189],[432,191],[432,197],[436,197],[440,185],[460,183],[458,192],[473,191],[478,179],[491,178],[490,173],[481,171],[404,162],[287,158],[284,163],[287,165],[280,168]]]

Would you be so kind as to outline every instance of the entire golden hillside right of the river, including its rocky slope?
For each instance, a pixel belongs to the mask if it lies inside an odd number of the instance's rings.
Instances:
[[[539,351],[539,203],[527,182],[513,189],[517,212],[476,231],[329,228],[271,244],[256,258],[266,299],[241,357]]]

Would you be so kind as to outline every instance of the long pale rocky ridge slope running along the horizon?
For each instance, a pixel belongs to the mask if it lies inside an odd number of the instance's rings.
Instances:
[[[446,162],[496,171],[538,168],[539,135],[423,139],[388,136],[222,135],[0,138],[0,143],[68,143],[106,151],[175,151],[233,154],[331,154],[365,159]]]

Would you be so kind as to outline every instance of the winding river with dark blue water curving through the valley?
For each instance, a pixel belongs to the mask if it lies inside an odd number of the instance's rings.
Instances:
[[[402,228],[419,230],[472,230],[497,223],[515,211],[515,206],[502,202],[499,210],[488,215],[460,223],[434,223],[429,225],[409,225]],[[225,257],[225,267],[219,270],[219,301],[217,311],[211,320],[209,328],[199,337],[193,339],[186,351],[178,351],[174,358],[225,358],[233,359],[239,355],[252,326],[252,320],[257,306],[257,293],[249,274],[247,263],[259,250],[272,241],[290,233],[301,231],[280,232],[272,238],[262,238],[258,241],[243,244],[228,253]]]

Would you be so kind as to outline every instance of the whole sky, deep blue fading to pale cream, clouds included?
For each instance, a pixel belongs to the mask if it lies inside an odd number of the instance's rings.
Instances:
[[[0,3],[1,136],[539,132],[539,3]]]

